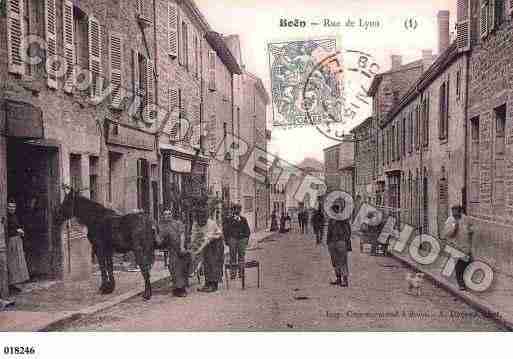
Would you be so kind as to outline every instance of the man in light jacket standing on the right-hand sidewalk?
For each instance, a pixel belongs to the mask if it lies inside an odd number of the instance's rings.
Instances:
[[[451,213],[452,214],[445,222],[442,236],[447,241],[448,245],[460,250],[466,256],[466,258],[459,258],[454,268],[460,290],[466,290],[463,275],[468,264],[472,261],[473,228],[467,216],[463,214],[462,206],[453,206]]]

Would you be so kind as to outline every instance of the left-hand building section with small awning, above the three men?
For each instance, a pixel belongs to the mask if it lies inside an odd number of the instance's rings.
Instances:
[[[233,129],[232,75],[240,68],[194,2],[156,7],[156,103],[168,114],[158,132],[162,203],[179,206],[177,194],[200,188],[229,203],[237,183],[224,176],[229,164],[219,147]]]

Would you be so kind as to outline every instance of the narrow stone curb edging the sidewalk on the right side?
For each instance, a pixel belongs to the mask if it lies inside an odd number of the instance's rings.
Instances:
[[[475,297],[474,295],[470,294],[467,291],[461,291],[449,283],[440,281],[434,274],[430,273],[429,271],[427,271],[425,269],[420,268],[413,261],[408,260],[407,258],[400,257],[394,253],[390,253],[390,254],[393,258],[401,261],[402,263],[408,265],[409,267],[424,273],[433,282],[437,283],[439,286],[443,287],[445,290],[447,290],[454,296],[460,298],[465,303],[470,305],[472,308],[477,309],[479,312],[484,314],[487,318],[490,318],[490,319],[494,320],[495,322],[501,324],[509,331],[513,331],[513,318],[505,318],[503,314],[500,314],[496,309],[494,309],[492,306],[490,306],[489,303],[485,302],[484,300]],[[494,313],[498,313],[498,315],[491,315]]]

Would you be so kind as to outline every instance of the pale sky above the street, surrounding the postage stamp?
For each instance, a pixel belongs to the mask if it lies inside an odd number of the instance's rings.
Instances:
[[[402,55],[403,63],[418,60],[421,50],[438,53],[436,15],[439,10],[451,13],[450,31],[454,29],[456,0],[195,0],[214,31],[223,35],[238,34],[242,61],[246,69],[259,76],[270,93],[271,76],[267,46],[269,43],[336,37],[343,50],[365,51],[372,55],[380,71],[390,69],[390,56]],[[305,20],[304,28],[280,27],[280,19]],[[311,26],[325,19],[340,22],[339,27]],[[356,26],[347,27],[352,20]],[[379,22],[378,27],[359,27],[360,19]],[[416,20],[415,30],[405,28],[408,19]],[[354,59],[344,59],[345,66]],[[347,73],[347,72],[345,72]],[[363,81],[363,80],[362,80]],[[368,87],[369,83],[366,83]],[[363,83],[362,83],[363,85]],[[360,103],[357,115],[342,130],[347,133],[371,114],[369,105]],[[323,149],[336,144],[314,127],[272,128],[273,111],[267,112],[272,140],[269,152],[299,163],[305,157],[323,160]]]

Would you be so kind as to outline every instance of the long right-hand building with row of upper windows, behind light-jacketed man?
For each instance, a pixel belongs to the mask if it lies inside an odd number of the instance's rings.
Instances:
[[[466,55],[453,43],[381,122],[384,204],[439,236],[464,193]]]

